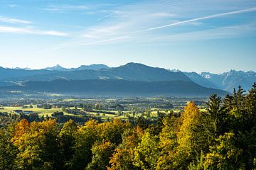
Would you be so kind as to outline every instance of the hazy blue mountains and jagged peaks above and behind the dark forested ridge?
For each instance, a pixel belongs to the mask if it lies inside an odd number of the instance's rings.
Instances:
[[[28,81],[63,80],[127,80],[127,81],[193,81],[206,88],[221,89],[232,92],[241,85],[248,90],[256,81],[253,71],[242,72],[230,70],[223,74],[210,72],[181,72],[178,69],[149,67],[139,63],[127,63],[119,67],[108,67],[105,64],[81,65],[67,69],[59,64],[46,69],[8,69],[0,67],[0,86],[25,84]],[[185,84],[185,83],[184,83]],[[188,87],[189,88],[189,87]]]

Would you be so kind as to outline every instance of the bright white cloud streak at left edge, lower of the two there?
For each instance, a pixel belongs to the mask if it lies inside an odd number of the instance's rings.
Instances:
[[[18,28],[18,27],[10,27],[10,26],[0,26],[0,32],[1,33],[68,36],[68,33],[58,32],[55,30],[36,30],[31,27]]]

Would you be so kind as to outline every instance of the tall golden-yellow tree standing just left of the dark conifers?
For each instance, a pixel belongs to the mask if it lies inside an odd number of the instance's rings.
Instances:
[[[203,123],[203,114],[193,102],[188,103],[181,115],[181,128],[177,132],[175,153],[171,156],[172,169],[187,169],[196,157],[208,148],[208,136]]]

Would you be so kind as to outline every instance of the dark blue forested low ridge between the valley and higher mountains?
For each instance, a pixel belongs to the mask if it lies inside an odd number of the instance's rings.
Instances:
[[[210,94],[225,96],[227,92],[199,86],[193,81],[127,81],[127,80],[53,80],[28,81],[22,86],[6,86],[12,91],[41,91],[80,96],[186,96],[201,97]]]

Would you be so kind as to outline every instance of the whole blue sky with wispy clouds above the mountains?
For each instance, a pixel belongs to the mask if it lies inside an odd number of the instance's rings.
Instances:
[[[255,0],[0,0],[0,66],[256,71]]]

